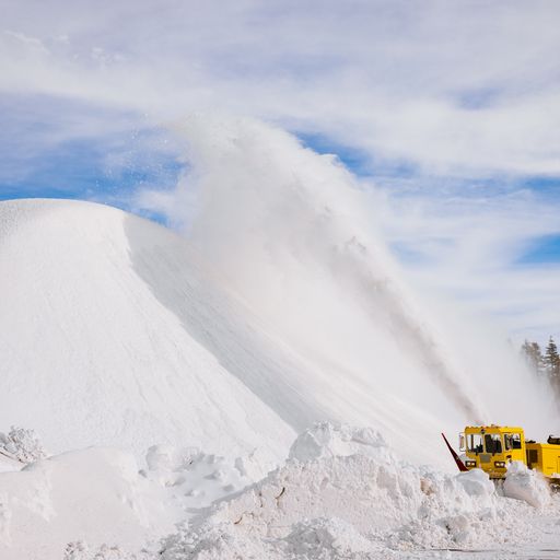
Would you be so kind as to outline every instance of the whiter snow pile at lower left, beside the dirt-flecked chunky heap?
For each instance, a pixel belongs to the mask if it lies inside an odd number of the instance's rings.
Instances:
[[[226,458],[170,445],[150,447],[145,464],[139,469],[129,453],[92,447],[0,474],[0,558],[33,558],[40,549],[59,559],[65,546],[65,560],[148,558],[143,547],[156,548],[175,524],[267,468],[258,452]]]

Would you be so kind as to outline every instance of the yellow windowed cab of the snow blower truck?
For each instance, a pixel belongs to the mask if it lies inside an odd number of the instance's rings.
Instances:
[[[481,468],[493,479],[504,478],[512,460],[527,462],[525,434],[518,427],[468,425],[459,434],[459,448],[467,469]]]

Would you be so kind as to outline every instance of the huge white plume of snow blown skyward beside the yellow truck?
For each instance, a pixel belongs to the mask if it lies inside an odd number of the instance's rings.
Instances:
[[[164,211],[267,332],[310,364],[310,390],[332,418],[378,425],[399,448],[404,430],[410,441],[410,424],[422,424],[418,452],[427,432],[439,446],[446,425],[505,421],[505,405],[497,410],[477,385],[516,389],[490,368],[467,375],[453,336],[424,320],[433,314],[418,307],[376,230],[384,202],[373,186],[257,120],[198,115],[174,128],[185,174],[141,203]]]

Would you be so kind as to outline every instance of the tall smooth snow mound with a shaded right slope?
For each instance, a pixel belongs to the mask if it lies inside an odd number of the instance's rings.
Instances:
[[[1,202],[0,427],[39,427],[54,452],[187,443],[282,456],[295,432],[280,415],[308,421],[312,401],[298,407],[295,396],[279,413],[240,378],[296,366],[198,260],[171,231],[114,208]],[[189,316],[172,311],[177,302]],[[280,386],[281,372],[273,377]]]

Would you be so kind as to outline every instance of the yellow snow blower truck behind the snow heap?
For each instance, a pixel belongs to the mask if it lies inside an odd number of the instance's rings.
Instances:
[[[459,452],[445,443],[460,471],[481,468],[492,479],[502,479],[508,464],[521,460],[530,469],[542,472],[552,483],[560,483],[560,436],[550,435],[547,443],[525,440],[522,428],[509,425],[467,425],[459,434]]]

